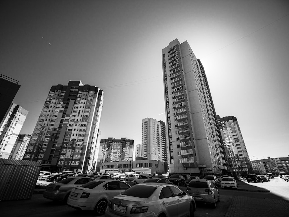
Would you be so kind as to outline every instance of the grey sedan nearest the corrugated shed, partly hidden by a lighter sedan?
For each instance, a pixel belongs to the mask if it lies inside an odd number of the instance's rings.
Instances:
[[[69,177],[62,179],[58,183],[47,185],[43,196],[53,201],[67,201],[70,191],[73,187],[84,185],[95,179],[88,177]]]

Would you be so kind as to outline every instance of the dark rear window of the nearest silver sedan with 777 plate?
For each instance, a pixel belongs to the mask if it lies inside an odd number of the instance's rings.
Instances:
[[[156,189],[156,187],[149,185],[134,185],[121,194],[132,197],[149,198]]]

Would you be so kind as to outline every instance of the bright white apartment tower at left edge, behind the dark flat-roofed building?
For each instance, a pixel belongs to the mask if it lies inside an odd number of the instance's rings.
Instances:
[[[27,115],[28,111],[21,106],[10,105],[0,126],[0,158],[9,158]]]

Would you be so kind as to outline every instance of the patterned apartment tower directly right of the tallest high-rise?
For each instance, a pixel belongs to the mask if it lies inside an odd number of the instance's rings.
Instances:
[[[227,158],[232,173],[247,175],[252,173],[250,158],[238,124],[234,116],[220,117],[217,115],[221,129],[223,144],[226,147]]]

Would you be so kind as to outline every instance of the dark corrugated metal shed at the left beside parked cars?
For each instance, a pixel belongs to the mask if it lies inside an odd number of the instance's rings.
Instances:
[[[0,201],[30,199],[40,168],[35,161],[0,159]]]

